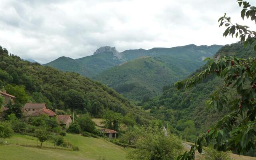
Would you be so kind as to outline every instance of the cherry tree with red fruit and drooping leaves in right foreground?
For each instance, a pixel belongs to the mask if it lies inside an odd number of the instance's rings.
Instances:
[[[256,7],[244,0],[238,0],[238,4],[243,6],[241,17],[244,19],[246,16],[256,22]],[[240,41],[244,42],[244,46],[254,45],[254,50],[256,50],[256,32],[248,30],[248,26],[233,25],[231,18],[226,17],[226,14],[219,19],[219,22],[220,26],[227,27],[224,36],[240,35]],[[222,88],[212,94],[208,104],[216,107],[218,111],[229,107],[231,113],[199,136],[190,151],[180,155],[178,160],[194,159],[195,150],[202,153],[203,147],[208,146],[210,142],[214,142],[214,149],[218,151],[233,150],[238,154],[256,147],[254,143],[256,136],[256,59],[224,57],[219,60],[210,58],[207,60],[205,70],[175,85],[179,89],[189,88],[209,74],[216,74],[224,78],[225,83]]]

